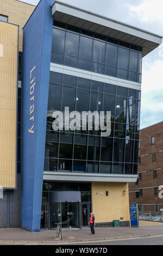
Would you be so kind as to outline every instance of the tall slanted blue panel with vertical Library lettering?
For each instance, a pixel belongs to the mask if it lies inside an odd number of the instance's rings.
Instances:
[[[40,231],[53,0],[41,0],[23,28],[22,228]]]

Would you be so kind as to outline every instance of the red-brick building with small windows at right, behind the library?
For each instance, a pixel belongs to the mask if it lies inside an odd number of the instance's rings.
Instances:
[[[129,183],[130,203],[138,203],[141,213],[160,214],[163,199],[158,193],[163,185],[163,122],[140,130],[137,182]]]

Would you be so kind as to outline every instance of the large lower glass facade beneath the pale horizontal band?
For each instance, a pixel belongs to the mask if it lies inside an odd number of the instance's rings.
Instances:
[[[60,46],[59,46],[60,47]],[[111,111],[111,133],[54,131],[52,113]],[[51,72],[48,96],[45,171],[136,174],[140,91]]]

